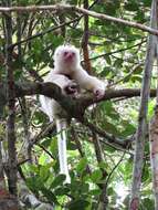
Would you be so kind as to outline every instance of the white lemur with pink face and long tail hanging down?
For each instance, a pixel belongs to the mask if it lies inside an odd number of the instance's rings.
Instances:
[[[59,46],[54,53],[54,69],[45,77],[44,82],[57,84],[64,94],[67,93],[65,88],[71,94],[76,93],[76,88],[74,87],[75,82],[81,90],[92,91],[96,98],[102,98],[105,92],[105,84],[95,76],[88,75],[82,67],[80,60],[80,52],[75,46]],[[65,181],[70,182],[66,159],[66,136],[64,132],[66,128],[64,111],[56,101],[43,95],[40,96],[40,102],[43,112],[50,117],[50,120],[52,122],[54,119],[56,123],[60,170],[61,174],[66,176]]]

